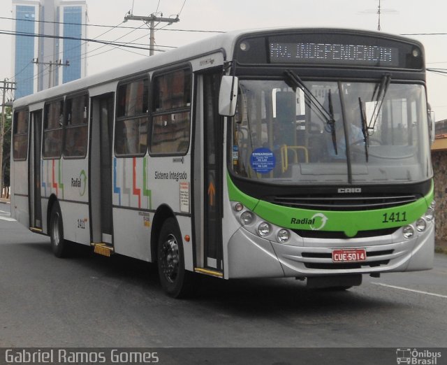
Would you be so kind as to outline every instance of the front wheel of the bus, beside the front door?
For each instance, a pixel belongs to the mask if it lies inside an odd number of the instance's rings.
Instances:
[[[173,217],[161,226],[157,243],[157,267],[161,287],[166,294],[182,298],[192,293],[193,273],[184,269],[182,234]]]

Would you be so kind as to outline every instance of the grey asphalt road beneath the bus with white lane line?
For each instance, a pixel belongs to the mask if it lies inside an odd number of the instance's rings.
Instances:
[[[447,255],[432,271],[364,278],[346,292],[293,279],[205,278],[198,296],[161,291],[154,266],[49,239],[0,204],[0,347],[446,347]]]

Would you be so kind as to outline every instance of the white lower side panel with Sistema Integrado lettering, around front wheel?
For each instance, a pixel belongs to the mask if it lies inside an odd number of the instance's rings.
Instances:
[[[190,161],[190,155],[113,159],[115,252],[153,261],[150,253],[152,221],[154,212],[162,204],[177,215],[182,236],[191,236]],[[189,270],[193,269],[192,255],[189,248],[189,252],[185,252],[186,268]]]

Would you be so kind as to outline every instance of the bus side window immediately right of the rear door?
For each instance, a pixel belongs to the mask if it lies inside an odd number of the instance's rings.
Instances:
[[[62,152],[64,100],[45,103],[43,119],[43,157],[59,158]]]

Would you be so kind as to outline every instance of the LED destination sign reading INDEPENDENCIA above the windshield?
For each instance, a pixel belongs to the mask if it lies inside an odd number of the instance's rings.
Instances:
[[[399,65],[399,49],[381,45],[270,42],[271,63]]]

